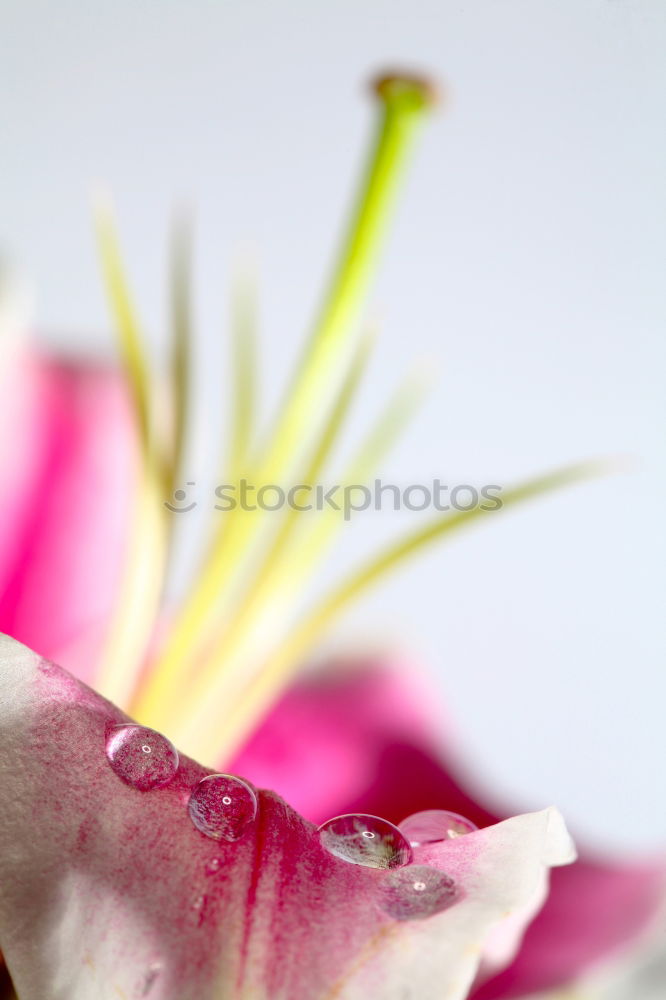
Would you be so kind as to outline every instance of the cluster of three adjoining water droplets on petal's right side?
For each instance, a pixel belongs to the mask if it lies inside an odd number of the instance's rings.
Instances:
[[[446,872],[414,864],[414,851],[476,829],[464,816],[437,809],[408,816],[398,826],[379,816],[349,813],[327,820],[317,832],[321,846],[336,858],[385,870],[378,902],[390,917],[402,921],[442,913],[461,896]]]

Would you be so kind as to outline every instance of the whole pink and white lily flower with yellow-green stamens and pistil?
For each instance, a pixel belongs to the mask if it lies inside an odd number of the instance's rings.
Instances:
[[[362,302],[433,101],[430,84],[410,76],[375,89],[379,128],[349,234],[266,438],[256,432],[254,293],[247,280],[236,287],[226,482],[317,483],[348,418],[371,347],[359,335]],[[177,516],[167,502],[186,478],[193,397],[189,236],[176,228],[165,387],[108,206],[97,231],[123,374],[17,352],[0,419],[16,470],[0,483],[0,630],[37,651],[10,640],[0,649],[0,948],[20,1000],[456,998],[475,978],[490,1000],[568,982],[642,932],[663,898],[663,866],[579,863],[560,873],[570,882],[554,882],[530,947],[528,932],[517,960],[528,972],[518,964],[488,980],[542,905],[548,868],[573,860],[559,814],[500,822],[468,797],[391,671],[294,686],[353,599],[479,522],[480,508],[418,527],[304,613],[340,514],[236,509],[212,529],[182,604],[164,601]],[[374,474],[419,396],[412,379],[398,388],[340,481]],[[519,484],[504,508],[590,471]],[[397,825],[433,810],[440,823],[443,810],[472,822],[464,836],[447,827],[427,843]],[[572,956],[576,926],[594,944]]]

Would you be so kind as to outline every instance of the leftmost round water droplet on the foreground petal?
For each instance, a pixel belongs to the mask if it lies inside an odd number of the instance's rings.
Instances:
[[[178,770],[178,751],[173,743],[145,726],[108,729],[106,756],[118,777],[142,792],[168,785]]]

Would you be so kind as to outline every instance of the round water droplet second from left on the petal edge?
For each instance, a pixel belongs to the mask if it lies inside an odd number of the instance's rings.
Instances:
[[[257,815],[257,796],[231,774],[202,778],[189,801],[190,819],[213,840],[239,840]]]

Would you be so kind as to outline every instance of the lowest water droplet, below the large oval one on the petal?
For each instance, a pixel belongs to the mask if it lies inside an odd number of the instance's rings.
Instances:
[[[428,865],[408,865],[387,874],[380,906],[394,920],[422,920],[447,910],[458,899],[458,887],[446,872]]]

